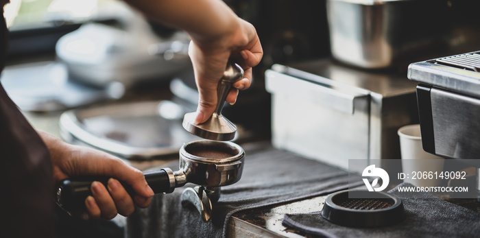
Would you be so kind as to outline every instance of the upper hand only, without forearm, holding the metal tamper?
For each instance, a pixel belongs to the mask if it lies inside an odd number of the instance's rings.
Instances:
[[[226,102],[235,104],[239,90],[250,87],[252,67],[259,64],[263,49],[254,26],[236,17],[228,31],[211,39],[195,38],[189,47],[189,56],[193,63],[195,82],[200,93],[196,123],[206,121],[215,110],[217,103],[217,86],[228,60],[239,64],[245,71],[244,78],[235,82],[226,98]]]

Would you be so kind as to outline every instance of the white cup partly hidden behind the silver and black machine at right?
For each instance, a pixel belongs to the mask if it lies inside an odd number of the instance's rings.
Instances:
[[[443,171],[444,158],[423,150],[420,124],[403,126],[398,129],[398,136],[405,176],[403,182],[409,182],[417,187],[440,185],[442,180],[437,175]]]

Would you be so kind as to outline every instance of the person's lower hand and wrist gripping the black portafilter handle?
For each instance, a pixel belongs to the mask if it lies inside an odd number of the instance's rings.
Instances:
[[[126,182],[135,191],[133,201],[116,179],[110,178],[107,188],[101,182],[93,182],[93,196],[85,200],[88,219],[112,219],[117,213],[128,216],[134,211],[134,202],[142,208],[150,204],[154,191],[138,169],[110,154],[64,143],[46,132],[38,134],[49,149],[55,184],[72,176],[110,176]]]

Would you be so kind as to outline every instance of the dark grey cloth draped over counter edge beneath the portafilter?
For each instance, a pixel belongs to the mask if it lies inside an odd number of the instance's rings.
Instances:
[[[155,195],[147,209],[136,209],[127,219],[126,237],[225,237],[234,213],[348,189],[352,179],[346,171],[276,150],[270,143],[257,143],[256,150],[242,146],[246,155],[241,180],[221,187],[211,222],[202,222],[198,211],[180,204],[185,187],[195,186],[187,184]],[[176,170],[178,162],[165,167]]]

